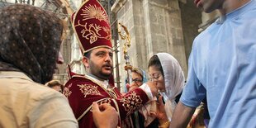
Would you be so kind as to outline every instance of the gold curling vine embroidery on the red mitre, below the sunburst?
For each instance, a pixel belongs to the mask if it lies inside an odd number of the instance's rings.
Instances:
[[[83,38],[90,40],[90,44],[96,42],[98,38],[111,40],[111,31],[106,26],[98,26],[97,24],[89,24],[88,26],[87,22],[82,25],[80,20],[78,20],[78,25],[76,26],[83,26],[83,30],[80,33],[82,33]],[[104,31],[107,36],[102,36],[99,31]]]

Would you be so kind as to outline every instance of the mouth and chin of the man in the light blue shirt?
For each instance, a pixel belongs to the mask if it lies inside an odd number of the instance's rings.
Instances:
[[[204,12],[209,13],[222,8],[225,0],[194,0],[197,7],[201,7]]]

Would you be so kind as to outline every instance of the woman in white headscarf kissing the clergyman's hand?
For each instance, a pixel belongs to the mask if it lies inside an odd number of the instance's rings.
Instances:
[[[159,93],[164,97],[159,98],[159,111],[154,115],[159,118],[159,127],[168,127],[176,107],[176,97],[183,91],[185,78],[177,59],[168,53],[158,53],[149,59],[149,79],[159,88]],[[163,107],[164,106],[164,107]],[[162,109],[162,110],[161,110]],[[164,109],[164,110],[163,110]],[[161,112],[162,111],[162,112]],[[165,113],[163,113],[165,111]],[[160,115],[160,116],[159,116]]]

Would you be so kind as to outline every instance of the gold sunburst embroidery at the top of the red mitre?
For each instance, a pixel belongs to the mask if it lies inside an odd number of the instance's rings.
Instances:
[[[83,16],[83,21],[95,18],[99,21],[106,21],[108,22],[108,17],[106,12],[102,10],[102,7],[97,7],[96,5],[92,6],[91,4],[88,7],[85,7],[85,9],[82,9],[83,13],[81,14]]]

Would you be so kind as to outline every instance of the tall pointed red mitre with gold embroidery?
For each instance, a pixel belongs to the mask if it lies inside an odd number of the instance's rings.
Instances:
[[[97,0],[83,2],[72,24],[83,54],[98,47],[112,48],[107,12]]]

